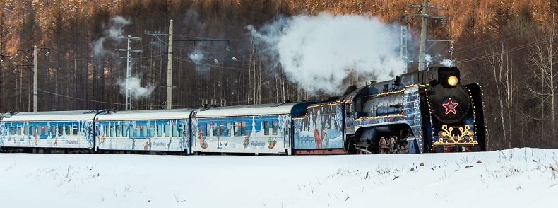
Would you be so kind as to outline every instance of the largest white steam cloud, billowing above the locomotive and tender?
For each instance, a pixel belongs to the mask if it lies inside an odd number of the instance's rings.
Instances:
[[[399,28],[374,17],[320,13],[248,29],[271,46],[271,57],[278,54],[290,79],[310,92],[339,93],[350,72],[385,81],[404,71]]]

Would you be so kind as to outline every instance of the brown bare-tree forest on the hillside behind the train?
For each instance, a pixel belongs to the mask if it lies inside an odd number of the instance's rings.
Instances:
[[[254,31],[293,16],[373,16],[406,26],[416,70],[419,0],[0,0],[0,112],[32,111],[37,46],[39,110],[124,110],[126,39],[132,40],[133,109],[166,100],[173,20],[173,108],[203,99],[227,105],[319,100],[286,73]],[[558,1],[432,0],[427,54],[451,59],[465,83],[483,86],[489,148],[558,147]],[[251,30],[254,28],[254,30]],[[280,29],[278,29],[280,30]],[[262,32],[263,33],[263,32]],[[394,33],[399,35],[398,33]],[[374,37],[371,37],[374,38]],[[399,37],[396,37],[399,38]],[[398,39],[397,39],[398,40]],[[332,39],[338,42],[341,39]],[[451,48],[451,50],[450,50]],[[374,48],[370,48],[374,50]],[[556,67],[555,67],[556,66]],[[367,77],[343,83],[364,84]]]

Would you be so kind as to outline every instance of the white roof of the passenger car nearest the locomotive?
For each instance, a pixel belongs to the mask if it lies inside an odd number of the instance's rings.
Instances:
[[[285,115],[306,112],[309,104],[302,103],[269,103],[261,105],[235,105],[196,110],[196,118],[204,117],[238,117],[251,115]]]

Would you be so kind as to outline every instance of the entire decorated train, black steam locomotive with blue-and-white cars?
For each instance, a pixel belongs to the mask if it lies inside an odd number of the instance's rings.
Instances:
[[[329,102],[172,110],[6,112],[0,151],[384,154],[486,151],[482,90],[456,67],[354,86]]]

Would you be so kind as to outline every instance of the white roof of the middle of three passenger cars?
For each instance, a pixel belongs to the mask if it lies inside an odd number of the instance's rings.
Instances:
[[[194,108],[189,109],[160,109],[160,110],[129,110],[111,112],[98,115],[95,120],[159,120],[159,119],[189,119]]]

